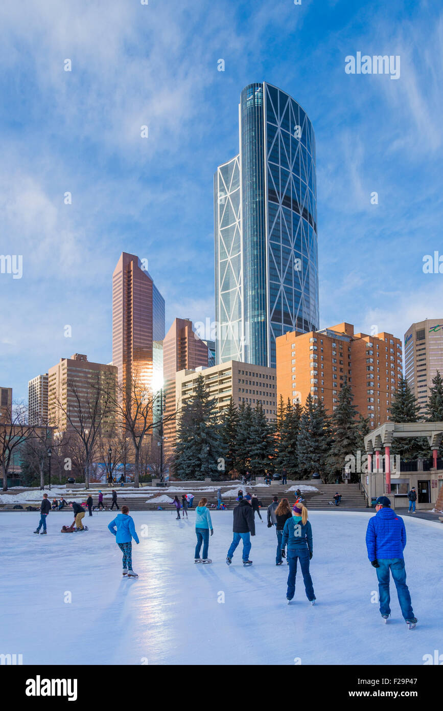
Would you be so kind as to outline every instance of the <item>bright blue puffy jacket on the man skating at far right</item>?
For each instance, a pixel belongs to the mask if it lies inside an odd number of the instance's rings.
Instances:
[[[386,506],[368,520],[366,547],[369,560],[403,558],[406,530],[403,518]]]

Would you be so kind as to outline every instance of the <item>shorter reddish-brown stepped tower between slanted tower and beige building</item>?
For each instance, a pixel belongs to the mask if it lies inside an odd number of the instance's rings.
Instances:
[[[175,374],[179,370],[194,370],[200,365],[207,368],[209,350],[203,341],[192,331],[192,321],[175,319],[163,341],[163,380],[164,380],[164,416],[175,412]],[[170,458],[175,447],[175,419],[168,419],[164,428],[165,465],[170,465]]]

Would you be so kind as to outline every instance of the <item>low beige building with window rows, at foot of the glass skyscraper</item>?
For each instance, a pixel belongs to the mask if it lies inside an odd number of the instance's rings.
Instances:
[[[212,368],[180,370],[175,379],[177,409],[195,395],[199,375],[202,375],[204,386],[209,392],[209,396],[214,400],[214,407],[219,415],[226,410],[232,397],[237,407],[241,407],[243,402],[248,402],[251,407],[256,407],[258,403],[261,403],[268,422],[276,421],[277,380],[275,368],[229,360],[228,363],[219,363],[219,365],[213,365]]]

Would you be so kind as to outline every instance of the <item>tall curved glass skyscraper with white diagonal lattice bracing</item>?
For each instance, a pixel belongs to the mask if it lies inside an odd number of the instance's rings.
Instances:
[[[241,92],[239,155],[214,175],[217,363],[275,368],[275,338],[319,327],[315,137],[266,82]]]

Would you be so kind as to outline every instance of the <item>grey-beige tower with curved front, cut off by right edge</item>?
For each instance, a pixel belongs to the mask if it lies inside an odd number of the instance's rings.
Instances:
[[[437,370],[443,377],[443,319],[425,319],[405,333],[405,378],[424,416]]]

